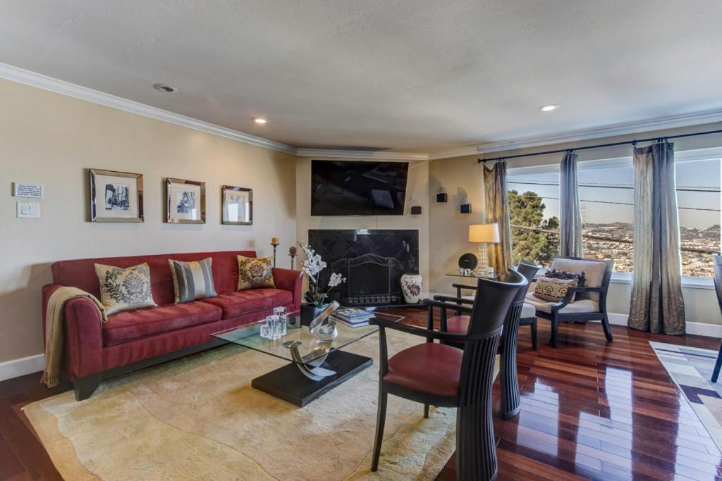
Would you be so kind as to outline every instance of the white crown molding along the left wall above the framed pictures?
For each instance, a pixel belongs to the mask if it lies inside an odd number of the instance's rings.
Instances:
[[[168,110],[162,110],[140,102],[134,102],[133,100],[123,99],[122,97],[117,97],[116,95],[106,94],[105,92],[99,92],[87,87],[81,87],[64,80],[53,79],[53,77],[37,74],[25,69],[19,69],[18,67],[7,65],[6,63],[0,63],[0,78],[17,81],[21,84],[38,87],[38,89],[56,92],[69,97],[75,97],[80,100],[87,100],[87,102],[105,105],[105,107],[125,110],[126,112],[143,115],[144,117],[153,118],[155,120],[175,123],[175,125],[193,128],[196,131],[212,133],[215,136],[231,138],[232,140],[240,141],[244,144],[264,147],[264,149],[285,152],[286,154],[296,154],[295,147],[281,144],[280,142],[252,136],[250,133],[234,131],[230,128],[204,122],[203,120],[186,117],[186,115],[168,112]]]

